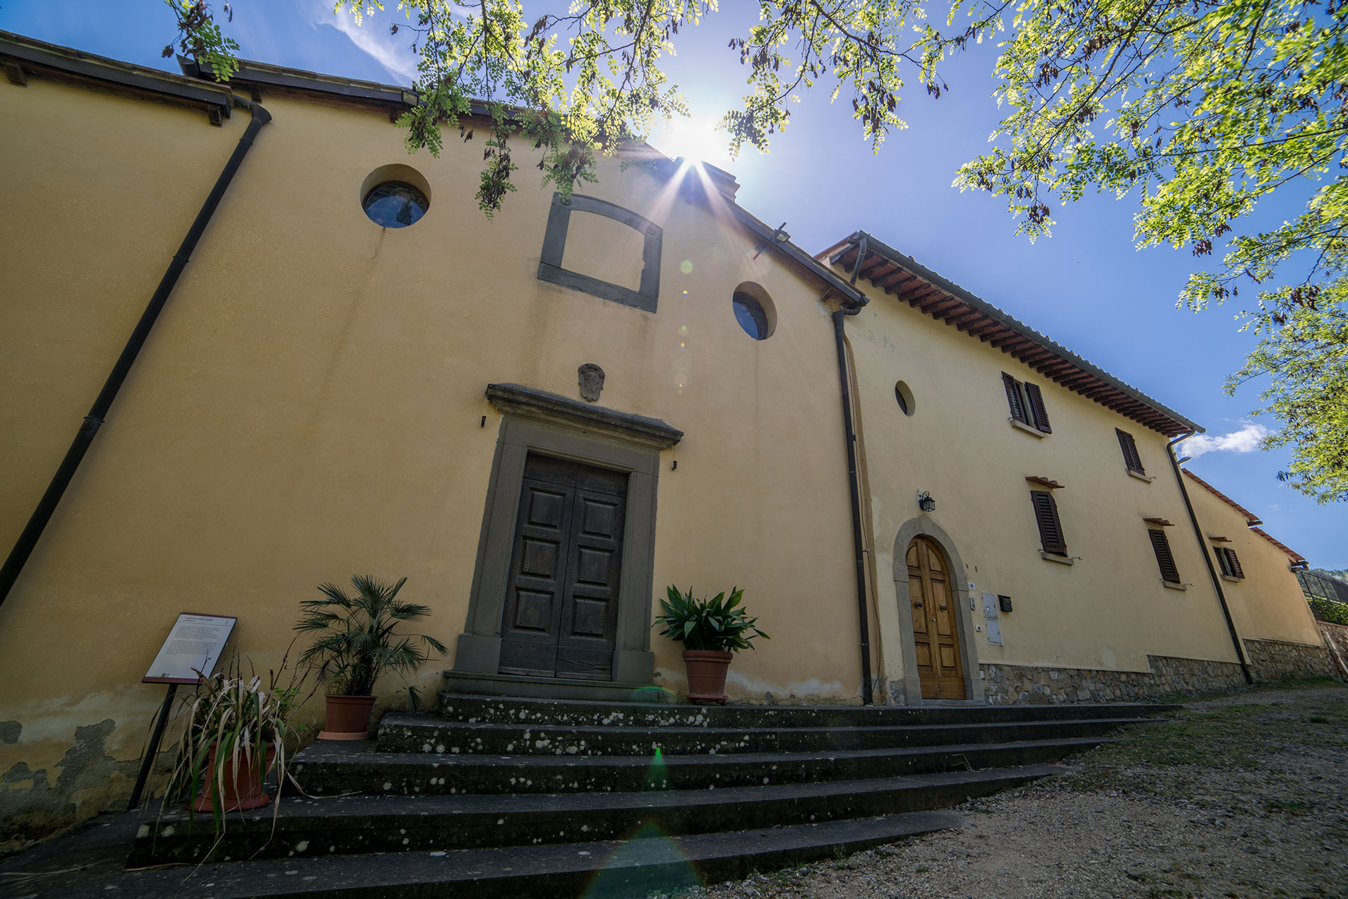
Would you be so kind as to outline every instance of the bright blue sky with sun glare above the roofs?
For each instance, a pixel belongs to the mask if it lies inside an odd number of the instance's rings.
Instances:
[[[377,13],[357,28],[334,16],[326,0],[232,5],[235,19],[224,28],[245,58],[390,84],[414,80],[406,42],[388,35],[388,23],[403,20],[396,12]],[[721,5],[729,12],[681,34],[679,53],[667,61],[694,113],[677,132],[652,135],[651,143],[671,155],[687,146],[708,147],[710,123],[744,90],[745,70],[727,43],[752,24],[756,4]],[[177,70],[159,55],[174,27],[173,13],[158,0],[7,0],[0,4],[0,30]],[[1290,452],[1252,449],[1258,425],[1277,426],[1250,416],[1259,406],[1258,381],[1235,396],[1223,392],[1227,375],[1254,345],[1248,333],[1237,333],[1239,307],[1198,314],[1175,309],[1197,260],[1186,251],[1136,251],[1130,199],[1091,195],[1054,209],[1054,236],[1031,244],[1015,236],[1002,201],[950,187],[954,170],[987,148],[999,120],[991,97],[992,54],[989,46],[977,47],[950,63],[950,90],[940,100],[910,89],[899,109],[910,127],[891,135],[879,154],[863,139],[848,97],[829,105],[826,90],[820,90],[802,96],[770,154],[731,160],[709,147],[702,156],[739,178],[747,209],[772,225],[786,221],[802,247],[818,251],[856,229],[868,230],[1205,426],[1217,439],[1189,464],[1194,473],[1259,515],[1264,530],[1313,566],[1348,567],[1348,505],[1317,505],[1282,485],[1277,473],[1287,468]],[[1277,221],[1293,212],[1287,205],[1264,217]],[[1251,287],[1251,299],[1254,292]]]

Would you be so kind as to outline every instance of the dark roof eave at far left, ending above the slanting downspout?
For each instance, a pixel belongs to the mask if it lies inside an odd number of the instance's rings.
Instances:
[[[15,84],[24,84],[26,77],[32,74],[101,88],[125,96],[201,109],[214,125],[229,117],[233,105],[233,94],[224,85],[202,84],[194,78],[62,47],[11,31],[0,31],[0,66]]]

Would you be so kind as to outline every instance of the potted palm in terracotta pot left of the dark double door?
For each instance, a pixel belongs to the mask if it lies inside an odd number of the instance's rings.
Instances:
[[[369,714],[375,708],[375,682],[384,674],[407,674],[430,660],[431,652],[449,650],[425,633],[395,633],[403,621],[419,621],[430,615],[425,605],[399,602],[398,592],[407,578],[388,585],[367,576],[352,576],[353,596],[333,584],[319,584],[319,600],[301,602],[303,613],[295,629],[314,632],[317,639],[299,660],[329,681],[325,726],[319,740],[365,740]],[[411,708],[421,708],[421,693],[407,685]]]

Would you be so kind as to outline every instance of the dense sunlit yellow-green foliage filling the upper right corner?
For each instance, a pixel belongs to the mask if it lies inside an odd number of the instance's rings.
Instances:
[[[1285,427],[1264,445],[1295,447],[1279,477],[1348,499],[1348,5],[1030,0],[1002,47],[995,96],[1011,113],[956,185],[1006,197],[1031,239],[1053,225],[1053,194],[1093,187],[1138,195],[1139,247],[1209,256],[1225,240],[1180,303],[1229,301],[1242,282],[1262,291],[1242,317],[1263,341],[1228,390],[1268,375],[1260,411]],[[1275,195],[1305,212],[1243,225]]]

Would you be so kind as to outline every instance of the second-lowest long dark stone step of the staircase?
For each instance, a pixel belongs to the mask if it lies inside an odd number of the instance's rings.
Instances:
[[[958,805],[1062,771],[1026,766],[874,780],[658,793],[453,797],[288,797],[243,817],[218,842],[206,815],[163,813],[143,828],[129,864],[321,857],[623,840],[818,824]]]

